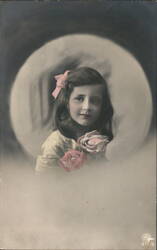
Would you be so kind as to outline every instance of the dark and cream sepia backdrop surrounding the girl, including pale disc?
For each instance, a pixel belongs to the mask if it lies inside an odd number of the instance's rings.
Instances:
[[[156,14],[151,1],[0,1],[0,248],[142,249],[155,237]],[[36,176],[53,76],[79,66],[108,82],[109,161]]]

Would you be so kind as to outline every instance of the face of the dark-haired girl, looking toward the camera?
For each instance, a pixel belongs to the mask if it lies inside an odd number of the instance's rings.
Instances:
[[[71,118],[82,126],[90,126],[98,119],[103,103],[103,85],[74,87],[69,99]]]

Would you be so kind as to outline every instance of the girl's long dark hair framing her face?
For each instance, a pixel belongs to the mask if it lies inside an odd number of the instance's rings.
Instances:
[[[104,87],[103,104],[97,121],[89,127],[84,127],[72,120],[68,103],[70,95],[75,87],[85,85],[102,84]],[[53,129],[58,129],[64,136],[77,139],[78,136],[85,132],[96,129],[102,135],[107,135],[112,140],[112,116],[113,107],[105,79],[95,69],[89,67],[81,67],[71,70],[68,73],[65,82],[65,88],[62,88],[57,96],[53,107]]]

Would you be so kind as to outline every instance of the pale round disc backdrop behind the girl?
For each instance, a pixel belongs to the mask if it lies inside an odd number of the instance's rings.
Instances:
[[[16,137],[25,151],[36,157],[51,133],[52,109],[49,82],[55,69],[69,61],[89,66],[107,76],[114,107],[114,139],[107,158],[123,158],[145,142],[152,117],[149,83],[138,61],[113,41],[95,35],[67,35],[36,50],[23,64],[14,81],[10,115]],[[64,65],[63,65],[64,64]]]

